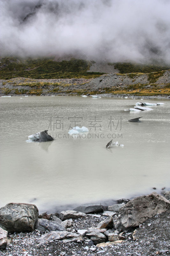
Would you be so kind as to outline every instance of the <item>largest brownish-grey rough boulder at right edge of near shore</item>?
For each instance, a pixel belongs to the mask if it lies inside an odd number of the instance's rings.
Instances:
[[[170,212],[170,202],[165,197],[156,192],[138,196],[119,209],[115,228],[128,229],[139,226],[148,218],[162,212]]]

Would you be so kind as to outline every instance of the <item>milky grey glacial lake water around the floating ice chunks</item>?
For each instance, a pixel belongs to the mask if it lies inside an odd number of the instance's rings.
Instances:
[[[129,112],[131,98],[1,97],[0,207],[10,202],[60,212],[76,205],[113,204],[170,188],[170,100]],[[142,116],[141,123],[127,120]],[[90,131],[68,135],[69,128]],[[56,139],[27,143],[48,130]],[[121,146],[106,149],[113,138]],[[153,190],[153,187],[156,190]]]

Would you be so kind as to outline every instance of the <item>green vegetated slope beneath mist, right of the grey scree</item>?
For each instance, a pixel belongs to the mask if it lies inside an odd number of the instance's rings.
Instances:
[[[170,66],[161,66],[161,65],[146,65],[146,64],[138,64],[138,63],[130,63],[130,62],[116,62],[116,63],[107,63],[107,65],[114,65],[115,69],[118,69],[121,74],[127,73],[151,73],[151,72],[159,72],[162,70],[167,70]]]

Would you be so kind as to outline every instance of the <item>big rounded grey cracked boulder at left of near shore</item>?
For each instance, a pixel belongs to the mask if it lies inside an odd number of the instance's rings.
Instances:
[[[38,219],[38,209],[34,204],[10,203],[0,208],[0,227],[9,233],[31,232]]]

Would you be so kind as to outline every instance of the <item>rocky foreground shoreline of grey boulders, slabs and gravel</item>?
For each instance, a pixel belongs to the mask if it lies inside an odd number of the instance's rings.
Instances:
[[[33,204],[0,209],[0,255],[169,255],[170,191],[38,214]]]

